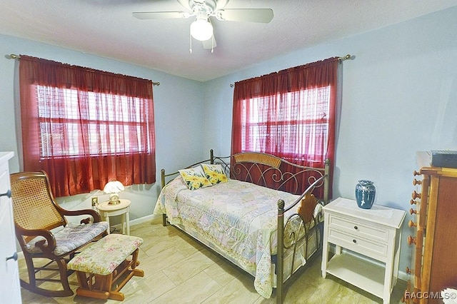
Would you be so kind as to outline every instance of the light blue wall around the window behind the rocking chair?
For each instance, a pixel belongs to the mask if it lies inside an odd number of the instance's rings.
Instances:
[[[157,196],[160,191],[161,168],[178,169],[191,161],[199,160],[203,138],[186,130],[201,130],[203,122],[195,119],[202,112],[203,83],[186,78],[171,76],[160,71],[144,69],[141,66],[124,64],[119,61],[104,59],[98,56],[84,54],[79,51],[61,49],[56,46],[40,44],[25,39],[16,39],[0,35],[0,151],[14,151],[14,158],[9,162],[11,173],[19,169],[19,141],[16,139],[16,121],[19,114],[14,104],[15,98],[15,65],[17,61],[6,59],[9,54],[26,54],[29,56],[51,59],[54,61],[87,66],[93,69],[111,71],[114,73],[137,76],[160,81],[160,86],[154,86],[154,111],[156,127],[156,180],[154,185],[134,185],[126,187],[120,194],[121,198],[129,198],[131,203],[130,218],[151,216]],[[154,59],[151,59],[154,60]],[[104,201],[108,196],[103,191],[58,198],[57,201],[67,209],[91,208],[92,196],[99,196]],[[114,224],[119,218],[114,218]]]

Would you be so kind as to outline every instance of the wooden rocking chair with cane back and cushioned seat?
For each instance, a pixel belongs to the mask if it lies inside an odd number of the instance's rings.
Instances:
[[[84,245],[107,235],[108,223],[102,222],[95,210],[67,211],[57,205],[44,171],[11,174],[11,199],[16,238],[24,253],[29,273],[29,282],[21,279],[21,286],[50,297],[73,295],[68,280],[73,271],[66,268],[66,263]],[[65,218],[84,215],[91,217],[81,220],[79,225],[69,224]],[[34,264],[36,258],[40,258],[41,263]],[[46,265],[41,265],[42,259],[49,259]],[[44,270],[59,272],[60,280],[49,275],[36,276]],[[59,285],[52,289],[41,288],[39,285],[43,281]]]

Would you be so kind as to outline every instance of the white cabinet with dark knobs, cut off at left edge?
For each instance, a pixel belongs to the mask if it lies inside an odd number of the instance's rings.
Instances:
[[[13,156],[13,152],[0,152],[0,295],[7,297],[8,303],[21,303],[16,236],[9,194],[8,160]]]

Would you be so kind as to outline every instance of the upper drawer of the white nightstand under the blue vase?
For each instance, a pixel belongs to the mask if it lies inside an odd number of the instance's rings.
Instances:
[[[340,218],[338,216],[331,215],[329,217],[328,226],[329,228],[334,228],[335,230],[343,230],[356,238],[368,238],[369,240],[381,242],[388,241],[388,230],[368,226],[358,221],[351,221],[351,219],[348,218]]]

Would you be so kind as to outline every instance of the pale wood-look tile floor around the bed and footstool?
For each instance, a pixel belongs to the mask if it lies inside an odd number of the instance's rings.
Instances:
[[[161,218],[131,226],[131,235],[144,239],[140,247],[139,269],[144,277],[133,277],[121,292],[124,303],[276,303],[262,298],[253,288],[253,277],[206,249]],[[21,278],[27,278],[24,260],[19,260]],[[76,290],[76,275],[69,277]],[[286,284],[284,303],[383,303],[380,298],[327,275],[321,276],[317,257],[300,275]],[[406,283],[398,280],[391,303],[401,303]],[[119,303],[73,295],[47,298],[21,288],[23,303]],[[1,302],[1,300],[0,300]]]

